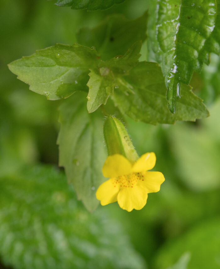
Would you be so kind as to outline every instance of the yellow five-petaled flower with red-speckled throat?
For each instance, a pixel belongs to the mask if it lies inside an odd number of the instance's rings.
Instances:
[[[120,154],[108,156],[102,173],[110,179],[98,187],[96,198],[101,205],[118,201],[119,206],[129,212],[143,208],[147,194],[158,192],[165,180],[161,172],[148,171],[155,163],[154,152],[145,153],[134,163]]]

